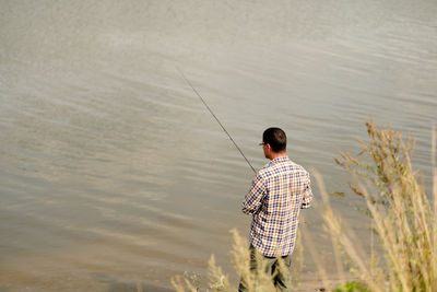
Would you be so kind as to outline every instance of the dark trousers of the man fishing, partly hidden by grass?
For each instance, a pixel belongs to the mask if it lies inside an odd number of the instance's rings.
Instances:
[[[272,276],[273,285],[275,287],[276,291],[291,291],[290,287],[290,267],[292,265],[292,256],[284,256],[284,257],[267,257],[261,255],[253,245],[249,247],[250,252],[250,271],[257,272],[257,257],[261,258],[264,261],[264,272]],[[284,265],[280,267],[280,260],[283,261]],[[238,292],[250,292],[247,288],[246,279],[241,278],[238,287]]]

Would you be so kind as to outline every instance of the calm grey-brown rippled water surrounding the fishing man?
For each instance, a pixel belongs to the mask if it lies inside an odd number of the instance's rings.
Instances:
[[[417,139],[430,186],[433,0],[0,4],[0,290],[167,291],[211,254],[232,272],[252,172],[176,66],[256,168],[279,126],[294,161],[347,191],[332,155],[357,153],[373,115]],[[328,250],[317,211],[304,221]]]

